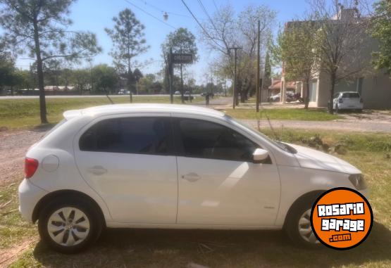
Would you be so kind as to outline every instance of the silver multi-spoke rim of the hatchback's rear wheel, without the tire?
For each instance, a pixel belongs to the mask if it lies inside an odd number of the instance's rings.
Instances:
[[[77,245],[85,241],[89,234],[89,219],[78,208],[60,208],[49,217],[47,230],[58,245]]]

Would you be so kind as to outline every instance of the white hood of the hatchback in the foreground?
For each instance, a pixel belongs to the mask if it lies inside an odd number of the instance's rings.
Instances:
[[[295,153],[294,156],[299,162],[300,167],[312,168],[316,170],[330,170],[347,174],[361,173],[361,171],[353,165],[350,165],[348,162],[340,158],[336,158],[333,155],[329,155],[328,153],[322,153],[321,151],[316,151],[311,148],[294,144],[289,145],[297,150],[297,153]]]

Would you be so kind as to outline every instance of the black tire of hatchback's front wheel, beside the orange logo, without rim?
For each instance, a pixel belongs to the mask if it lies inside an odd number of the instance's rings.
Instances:
[[[314,204],[317,196],[319,195],[307,196],[297,200],[292,205],[292,208],[290,208],[287,219],[285,220],[284,231],[286,232],[287,236],[289,236],[294,244],[303,248],[321,248],[321,243],[310,243],[309,241],[304,240],[304,238],[299,233],[299,220],[304,212],[307,212],[308,210],[311,211],[312,205]],[[309,228],[311,229],[310,222]]]

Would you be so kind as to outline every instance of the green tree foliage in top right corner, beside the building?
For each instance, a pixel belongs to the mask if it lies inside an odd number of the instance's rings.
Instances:
[[[371,33],[378,39],[379,51],[373,52],[373,65],[376,69],[385,68],[387,74],[391,75],[391,1],[378,1],[374,7]]]

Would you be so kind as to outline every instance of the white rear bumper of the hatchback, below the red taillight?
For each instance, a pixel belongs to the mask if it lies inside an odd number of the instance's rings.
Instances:
[[[28,179],[23,179],[19,185],[18,192],[20,214],[29,222],[32,222],[32,212],[34,211],[35,205],[48,192],[35,186]]]

